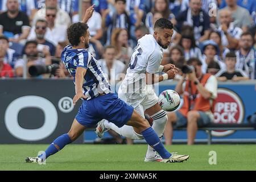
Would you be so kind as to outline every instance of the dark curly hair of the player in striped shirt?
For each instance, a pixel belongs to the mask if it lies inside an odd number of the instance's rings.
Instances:
[[[80,43],[80,37],[84,36],[85,32],[88,29],[88,25],[86,23],[74,23],[72,24],[68,30],[68,41],[72,46],[78,46]]]

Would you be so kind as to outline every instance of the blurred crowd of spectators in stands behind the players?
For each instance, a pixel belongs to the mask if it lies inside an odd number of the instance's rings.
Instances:
[[[162,65],[181,68],[197,57],[220,81],[256,78],[256,0],[0,0],[0,77],[53,62],[53,77],[70,77],[60,60],[67,27],[93,4],[88,49],[109,79],[126,72],[137,40],[162,17],[175,26]]]

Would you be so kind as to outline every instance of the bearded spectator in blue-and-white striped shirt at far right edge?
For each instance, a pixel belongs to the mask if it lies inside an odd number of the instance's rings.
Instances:
[[[253,48],[253,35],[244,32],[239,40],[239,49],[236,52],[236,68],[242,69],[250,79],[256,79],[256,52]]]

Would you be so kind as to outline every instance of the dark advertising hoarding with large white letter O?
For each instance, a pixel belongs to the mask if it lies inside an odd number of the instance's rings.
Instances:
[[[73,106],[74,94],[72,80],[0,80],[0,143],[51,143],[68,133],[82,104]]]

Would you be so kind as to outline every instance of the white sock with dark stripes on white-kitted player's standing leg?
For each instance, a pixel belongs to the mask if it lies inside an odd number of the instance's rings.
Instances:
[[[166,127],[166,122],[168,119],[166,112],[164,110],[160,110],[154,115],[151,115],[150,117],[154,119],[152,129],[155,130],[155,133],[158,135],[159,138],[162,138],[164,127]],[[154,158],[155,154],[156,154],[156,151],[154,150],[154,148],[148,145],[146,158]]]

